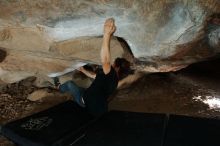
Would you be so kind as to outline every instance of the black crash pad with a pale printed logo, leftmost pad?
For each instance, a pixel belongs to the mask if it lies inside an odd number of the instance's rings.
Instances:
[[[2,134],[22,146],[65,146],[76,141],[93,117],[73,101],[10,122]]]

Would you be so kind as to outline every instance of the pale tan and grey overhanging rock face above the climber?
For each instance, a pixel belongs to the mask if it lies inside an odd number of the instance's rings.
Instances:
[[[109,17],[119,37],[112,59],[124,56],[146,72],[176,71],[219,54],[219,13],[219,0],[1,0],[0,83],[100,64]]]

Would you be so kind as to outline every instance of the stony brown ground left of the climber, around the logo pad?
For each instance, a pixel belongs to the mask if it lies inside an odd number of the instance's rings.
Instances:
[[[42,111],[58,103],[70,99],[69,95],[61,95],[53,88],[38,88],[33,85],[35,78],[31,77],[18,83],[6,85],[0,91],[0,125],[20,119],[33,113]],[[40,91],[40,92],[37,92]],[[42,96],[44,98],[31,101],[28,98]],[[32,98],[34,99],[34,98]],[[14,144],[0,135],[0,146],[13,146]]]

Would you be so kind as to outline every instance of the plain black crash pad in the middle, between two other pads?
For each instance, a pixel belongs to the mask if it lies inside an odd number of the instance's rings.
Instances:
[[[111,111],[86,130],[74,146],[161,146],[165,114]]]

